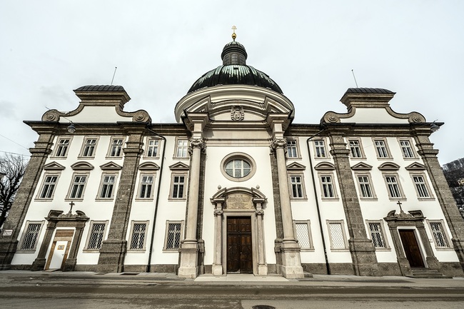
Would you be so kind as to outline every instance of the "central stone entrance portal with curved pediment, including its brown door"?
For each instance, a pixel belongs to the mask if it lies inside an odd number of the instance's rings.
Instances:
[[[263,193],[254,188],[223,188],[211,198],[211,203],[215,205],[213,275],[267,275]]]

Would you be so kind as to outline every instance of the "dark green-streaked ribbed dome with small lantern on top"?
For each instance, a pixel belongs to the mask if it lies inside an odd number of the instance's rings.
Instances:
[[[234,39],[223,48],[221,53],[223,65],[203,74],[187,93],[212,86],[249,85],[268,88],[283,94],[281,87],[268,74],[253,66],[247,66],[247,58],[245,47]]]

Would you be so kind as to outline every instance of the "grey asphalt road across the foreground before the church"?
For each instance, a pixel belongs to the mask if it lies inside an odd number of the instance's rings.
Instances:
[[[409,287],[404,282],[390,287],[350,282],[333,286],[219,284],[0,272],[0,308],[464,308],[464,285]]]

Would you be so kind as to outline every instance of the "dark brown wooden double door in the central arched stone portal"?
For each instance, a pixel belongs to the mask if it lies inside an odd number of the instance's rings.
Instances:
[[[227,273],[253,273],[251,217],[227,218]]]

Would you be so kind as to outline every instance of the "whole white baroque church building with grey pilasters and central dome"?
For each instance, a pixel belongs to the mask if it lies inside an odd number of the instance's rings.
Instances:
[[[122,86],[25,121],[39,134],[1,231],[1,269],[197,275],[463,276],[464,221],[429,137],[443,123],[349,88],[347,113],[293,123],[233,41],[174,108]]]

